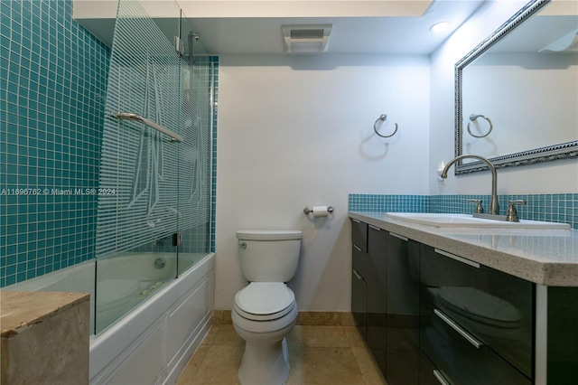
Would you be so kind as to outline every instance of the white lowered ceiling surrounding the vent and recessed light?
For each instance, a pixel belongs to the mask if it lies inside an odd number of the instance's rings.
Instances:
[[[421,16],[199,17],[189,22],[211,54],[283,54],[282,25],[332,24],[328,53],[429,54],[483,3],[437,0]],[[450,22],[443,33],[433,23]]]

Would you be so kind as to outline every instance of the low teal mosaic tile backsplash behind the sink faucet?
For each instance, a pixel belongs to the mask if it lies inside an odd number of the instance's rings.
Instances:
[[[473,212],[469,199],[480,199],[488,210],[489,195],[370,195],[350,194],[350,211],[401,211],[401,212]],[[518,217],[532,221],[569,223],[578,229],[578,193],[499,195],[502,213],[510,200],[524,200],[517,206]],[[419,202],[417,204],[416,202]]]

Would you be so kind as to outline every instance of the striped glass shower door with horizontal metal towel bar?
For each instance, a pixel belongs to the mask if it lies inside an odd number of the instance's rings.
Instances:
[[[177,244],[190,214],[181,203],[180,9],[121,0],[107,81],[97,221],[95,333],[177,277]],[[154,12],[154,11],[153,11]]]

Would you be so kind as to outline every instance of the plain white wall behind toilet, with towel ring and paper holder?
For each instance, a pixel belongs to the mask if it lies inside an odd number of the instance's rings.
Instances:
[[[235,231],[296,229],[299,309],[350,310],[348,194],[428,193],[429,84],[427,56],[221,56],[216,309],[246,285]]]

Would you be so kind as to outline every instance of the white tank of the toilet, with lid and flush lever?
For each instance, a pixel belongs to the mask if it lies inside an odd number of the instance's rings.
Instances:
[[[238,230],[243,276],[249,282],[288,282],[301,248],[299,230]]]

